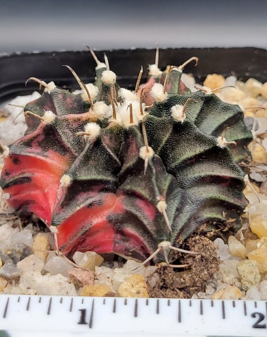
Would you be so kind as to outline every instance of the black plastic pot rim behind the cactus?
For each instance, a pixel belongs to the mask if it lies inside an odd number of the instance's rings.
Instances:
[[[111,69],[116,72],[118,82],[124,87],[133,87],[140,65],[146,69],[147,64],[154,62],[155,50],[114,50],[96,52],[102,60],[103,53],[109,58]],[[267,82],[267,51],[257,48],[181,48],[160,50],[159,66],[179,65],[191,56],[199,57],[199,64],[193,62],[186,67],[198,82],[207,74],[220,73],[224,76],[236,75],[245,80],[254,77]],[[84,82],[94,79],[95,62],[88,51],[12,54],[0,57],[0,103],[17,95],[26,95],[38,90],[38,85],[30,82],[25,87],[27,78],[34,76],[45,82],[54,81],[60,87],[78,89],[70,71],[62,67],[70,65]],[[145,79],[145,74],[143,79]]]

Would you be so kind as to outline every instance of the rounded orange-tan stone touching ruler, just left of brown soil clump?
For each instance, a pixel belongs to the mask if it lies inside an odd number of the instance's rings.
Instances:
[[[119,287],[120,297],[149,297],[144,277],[134,274],[127,278]]]

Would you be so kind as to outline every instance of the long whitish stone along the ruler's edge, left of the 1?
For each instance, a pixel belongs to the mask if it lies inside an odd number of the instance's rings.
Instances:
[[[77,295],[75,285],[61,274],[42,275],[29,271],[20,277],[20,286],[24,289],[34,289],[39,295]]]

